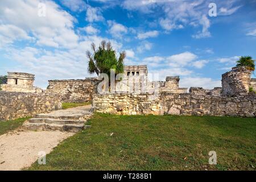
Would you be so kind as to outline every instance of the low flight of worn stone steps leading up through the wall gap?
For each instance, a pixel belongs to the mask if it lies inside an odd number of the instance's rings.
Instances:
[[[32,131],[66,131],[76,133],[84,127],[86,121],[92,117],[90,105],[74,107],[65,110],[56,110],[46,114],[36,114],[35,118],[28,119],[22,130]]]

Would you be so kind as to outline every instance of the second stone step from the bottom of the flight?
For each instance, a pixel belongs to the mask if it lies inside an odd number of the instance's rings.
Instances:
[[[48,123],[57,125],[66,124],[84,124],[86,120],[64,120],[64,119],[53,119],[53,118],[31,118],[28,119],[29,123]]]

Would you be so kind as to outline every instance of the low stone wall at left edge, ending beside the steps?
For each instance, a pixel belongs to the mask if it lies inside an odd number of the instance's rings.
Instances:
[[[0,121],[58,109],[61,109],[61,102],[55,94],[0,92]]]

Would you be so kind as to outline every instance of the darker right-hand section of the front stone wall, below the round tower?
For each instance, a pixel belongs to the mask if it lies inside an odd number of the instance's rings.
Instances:
[[[167,114],[256,117],[256,96],[221,97],[164,93],[160,99]]]

